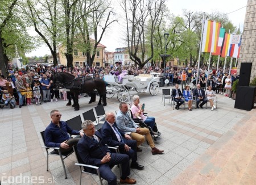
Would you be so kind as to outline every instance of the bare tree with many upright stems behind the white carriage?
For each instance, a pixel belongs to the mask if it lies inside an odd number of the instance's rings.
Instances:
[[[126,41],[129,55],[139,68],[143,68],[154,57],[153,38],[158,18],[165,0],[122,0],[121,7],[125,12]],[[146,32],[150,56],[146,58]]]

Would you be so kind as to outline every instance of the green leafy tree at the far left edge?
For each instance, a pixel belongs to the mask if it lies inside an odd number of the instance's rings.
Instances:
[[[4,75],[11,58],[23,57],[24,52],[34,48],[32,37],[26,31],[27,23],[22,19],[21,6],[18,0],[0,3],[0,69]]]

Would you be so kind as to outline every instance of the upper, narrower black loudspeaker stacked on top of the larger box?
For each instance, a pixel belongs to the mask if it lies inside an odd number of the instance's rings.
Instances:
[[[240,76],[238,86],[249,86],[251,77],[251,62],[242,62],[240,68]]]

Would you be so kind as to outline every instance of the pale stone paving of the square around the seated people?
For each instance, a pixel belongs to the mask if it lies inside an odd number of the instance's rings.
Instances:
[[[144,170],[132,169],[130,177],[137,184],[255,184],[256,110],[234,109],[235,101],[224,95],[217,95],[218,106],[214,111],[210,111],[209,103],[204,109],[175,110],[168,100],[166,106],[161,103],[163,88],[174,87],[161,87],[156,96],[130,91],[131,95],[141,97],[148,115],[156,118],[162,135],[155,144],[164,150],[162,155],[152,155],[145,142],[141,146],[143,151],[138,153]],[[105,110],[118,111],[117,96],[107,100]],[[83,96],[79,102],[80,111],[65,106],[67,102],[63,100],[0,109],[1,184],[79,184],[75,154],[64,160],[68,179],[64,178],[59,157],[49,157],[46,171],[46,152],[40,136],[51,121],[51,110],[60,110],[61,119],[68,120],[97,106],[88,104],[89,98]],[[118,168],[113,170],[119,179]],[[98,179],[83,174],[82,184],[98,184]]]

